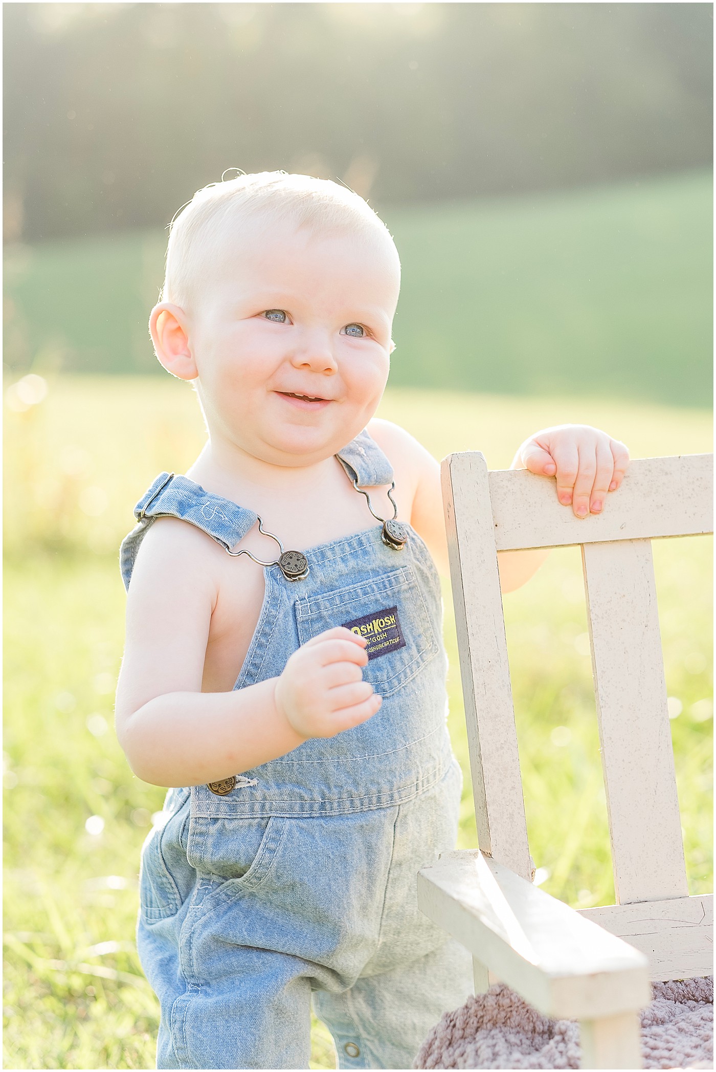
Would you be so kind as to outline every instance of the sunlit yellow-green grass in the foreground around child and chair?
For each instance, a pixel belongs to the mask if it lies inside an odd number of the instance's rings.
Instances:
[[[117,545],[162,468],[203,442],[192,392],[152,378],[49,381],[5,408],[5,1067],[153,1067],[156,1001],[133,943],[139,848],[163,792],[133,777],[113,732],[124,594]],[[436,457],[507,466],[531,431],[599,423],[632,455],[711,449],[710,415],[570,399],[393,390],[382,415]],[[672,739],[691,893],[712,884],[711,541],[655,546]],[[449,585],[450,727],[467,773]],[[613,885],[579,553],[553,552],[505,599],[531,851],[576,906]],[[476,844],[469,779],[460,842]],[[314,1068],[332,1068],[313,1032]]]

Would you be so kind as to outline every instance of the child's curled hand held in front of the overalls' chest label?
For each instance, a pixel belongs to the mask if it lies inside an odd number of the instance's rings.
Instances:
[[[363,681],[367,641],[338,626],[290,656],[277,681],[275,703],[304,738],[334,736],[371,718],[383,698]]]

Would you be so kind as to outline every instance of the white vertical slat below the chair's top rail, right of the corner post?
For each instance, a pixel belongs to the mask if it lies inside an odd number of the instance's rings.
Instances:
[[[688,896],[652,546],[582,548],[617,904]]]

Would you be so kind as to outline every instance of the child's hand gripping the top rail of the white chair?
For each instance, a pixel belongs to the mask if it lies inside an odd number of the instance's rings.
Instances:
[[[557,496],[578,518],[599,513],[607,492],[616,491],[629,464],[629,451],[606,432],[588,425],[557,425],[536,432],[522,444],[513,467],[555,476]]]

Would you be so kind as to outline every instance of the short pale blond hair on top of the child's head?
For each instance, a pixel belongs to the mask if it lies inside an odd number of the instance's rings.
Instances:
[[[249,219],[308,226],[317,235],[379,233],[396,249],[377,213],[347,187],[285,172],[241,173],[197,190],[173,219],[160,300],[188,308],[229,220]],[[396,259],[400,264],[397,251]]]

